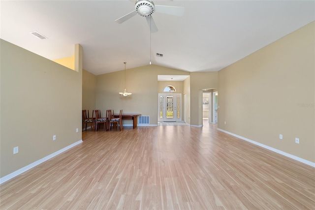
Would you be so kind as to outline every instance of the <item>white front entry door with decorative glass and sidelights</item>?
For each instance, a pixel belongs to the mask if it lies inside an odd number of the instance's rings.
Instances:
[[[158,94],[158,122],[182,122],[182,94]]]

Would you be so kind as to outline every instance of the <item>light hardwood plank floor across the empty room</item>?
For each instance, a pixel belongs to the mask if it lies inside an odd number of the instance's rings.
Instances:
[[[83,132],[0,185],[0,209],[315,209],[315,169],[205,123]]]

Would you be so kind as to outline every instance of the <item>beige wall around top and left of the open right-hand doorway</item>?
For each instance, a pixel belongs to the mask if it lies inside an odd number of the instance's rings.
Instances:
[[[218,88],[218,72],[190,72],[190,124],[202,126],[202,90]]]

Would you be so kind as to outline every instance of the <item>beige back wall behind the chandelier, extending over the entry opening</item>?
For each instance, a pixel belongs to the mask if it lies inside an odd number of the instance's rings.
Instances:
[[[124,113],[150,116],[150,124],[158,124],[158,75],[189,75],[189,72],[156,65],[126,70],[126,91],[130,97],[121,97],[124,91],[125,70],[96,76],[96,108],[114,109]],[[131,124],[131,122],[124,122]]]

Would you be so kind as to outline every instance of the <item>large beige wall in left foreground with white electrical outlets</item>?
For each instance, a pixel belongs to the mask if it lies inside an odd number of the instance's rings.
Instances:
[[[2,39],[0,45],[3,177],[82,139],[82,70],[70,70]],[[19,153],[13,155],[15,146]]]

